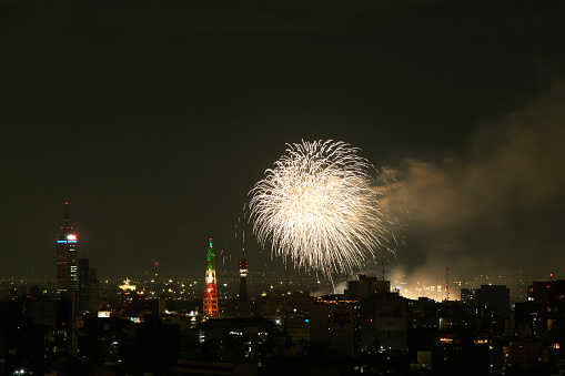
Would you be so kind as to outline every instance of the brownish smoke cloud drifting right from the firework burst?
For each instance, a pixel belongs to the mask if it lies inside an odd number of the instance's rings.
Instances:
[[[565,93],[486,120],[462,154],[394,171],[410,212],[398,263],[413,273],[557,273],[565,262]],[[542,273],[542,274],[541,274]],[[561,271],[565,277],[565,270]]]

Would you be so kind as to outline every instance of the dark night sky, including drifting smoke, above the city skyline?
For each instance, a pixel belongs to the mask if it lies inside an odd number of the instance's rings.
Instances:
[[[1,0],[0,275],[54,277],[65,200],[100,275],[203,273],[208,237],[239,255],[248,192],[302,139],[396,175],[406,271],[563,275],[563,19],[562,1]],[[280,266],[248,240],[251,268]]]

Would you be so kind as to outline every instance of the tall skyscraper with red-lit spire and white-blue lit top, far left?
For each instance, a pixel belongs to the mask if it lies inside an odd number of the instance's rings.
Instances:
[[[77,261],[77,235],[69,227],[69,203],[64,203],[64,226],[57,241],[57,292],[79,289],[79,265]]]

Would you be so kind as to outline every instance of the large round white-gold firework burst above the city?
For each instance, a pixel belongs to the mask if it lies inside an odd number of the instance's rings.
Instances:
[[[385,247],[380,193],[359,149],[332,140],[287,144],[250,192],[253,232],[297,267],[352,274]],[[392,250],[390,250],[392,251]]]

